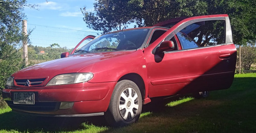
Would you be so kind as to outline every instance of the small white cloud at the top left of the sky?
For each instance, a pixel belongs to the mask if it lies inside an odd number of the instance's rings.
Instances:
[[[55,2],[44,2],[39,3],[39,9],[50,9],[50,10],[66,10],[69,8],[67,4],[58,4]]]

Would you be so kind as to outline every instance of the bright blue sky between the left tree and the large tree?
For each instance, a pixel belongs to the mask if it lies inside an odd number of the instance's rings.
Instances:
[[[100,31],[87,28],[80,8],[86,6],[94,11],[95,1],[89,0],[27,0],[27,4],[38,5],[38,10],[25,7],[29,38],[33,46],[49,47],[58,43],[60,47],[74,48],[87,35],[96,35]],[[58,29],[59,28],[59,29]],[[65,28],[65,29],[62,29]],[[72,31],[72,30],[78,31]],[[87,31],[87,32],[81,32]]]

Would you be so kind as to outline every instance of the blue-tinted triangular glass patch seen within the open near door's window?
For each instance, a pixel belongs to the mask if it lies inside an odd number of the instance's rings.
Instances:
[[[189,38],[184,33],[179,32],[177,33],[177,36],[179,38],[179,41],[183,50],[198,48],[198,45],[195,43],[195,41]]]

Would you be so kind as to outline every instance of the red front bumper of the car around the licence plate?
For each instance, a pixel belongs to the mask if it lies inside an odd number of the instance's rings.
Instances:
[[[71,114],[91,114],[105,112],[108,108],[112,94],[112,89],[116,82],[106,83],[78,83],[74,85],[56,85],[47,87],[35,87],[33,89],[22,90],[22,92],[34,92],[36,102],[74,102],[74,106],[69,109],[58,109],[54,112],[36,112],[37,114],[51,115],[71,115]],[[5,89],[3,91],[6,100],[13,100],[12,94],[21,90]],[[101,106],[99,106],[101,105]],[[11,106],[12,107],[12,106]],[[28,113],[35,113],[23,110]]]

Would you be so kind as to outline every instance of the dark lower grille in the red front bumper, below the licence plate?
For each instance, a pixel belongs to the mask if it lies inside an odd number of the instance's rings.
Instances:
[[[6,101],[14,110],[23,110],[31,112],[54,112],[59,108],[59,102],[35,102],[34,105],[13,104],[13,101]]]

